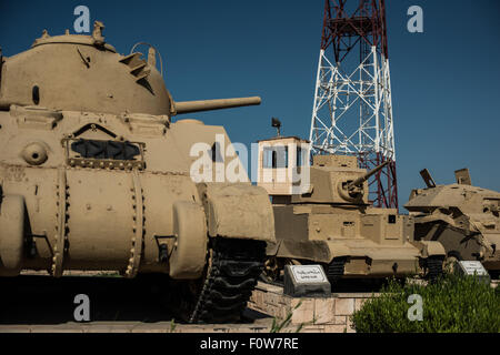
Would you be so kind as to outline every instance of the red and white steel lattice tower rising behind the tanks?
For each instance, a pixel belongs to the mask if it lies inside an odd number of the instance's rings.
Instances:
[[[369,180],[370,201],[397,209],[393,132],[384,1],[326,0],[312,154],[354,154],[366,169],[389,160]]]

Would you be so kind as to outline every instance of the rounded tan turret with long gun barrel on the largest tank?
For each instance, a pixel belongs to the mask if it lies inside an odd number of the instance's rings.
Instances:
[[[1,64],[0,108],[36,105],[50,110],[174,115],[260,104],[260,98],[174,102],[156,68],[157,51],[119,54],[104,42],[103,24],[91,36],[43,31],[26,52]]]

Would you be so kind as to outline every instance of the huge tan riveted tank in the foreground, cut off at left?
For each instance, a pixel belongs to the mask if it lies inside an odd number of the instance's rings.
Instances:
[[[174,102],[154,49],[121,55],[102,28],[44,31],[1,58],[0,275],[162,273],[179,281],[190,322],[234,321],[274,239],[271,204],[249,182],[196,183],[193,143],[229,138],[172,116],[260,98]]]

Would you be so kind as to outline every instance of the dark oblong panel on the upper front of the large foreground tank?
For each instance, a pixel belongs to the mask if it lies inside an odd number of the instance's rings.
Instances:
[[[140,149],[130,142],[79,140],[71,143],[71,150],[88,159],[134,160]]]

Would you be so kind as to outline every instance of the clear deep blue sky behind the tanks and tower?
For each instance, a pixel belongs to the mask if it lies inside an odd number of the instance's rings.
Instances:
[[[43,29],[73,32],[73,9],[121,53],[139,41],[163,57],[174,100],[262,97],[260,106],[190,114],[226,126],[250,144],[283,133],[308,138],[321,38],[323,0],[1,1],[0,45],[13,55]],[[423,9],[423,33],[407,31],[410,6]],[[389,58],[400,204],[423,186],[468,166],[472,183],[500,191],[500,2],[387,0]]]

